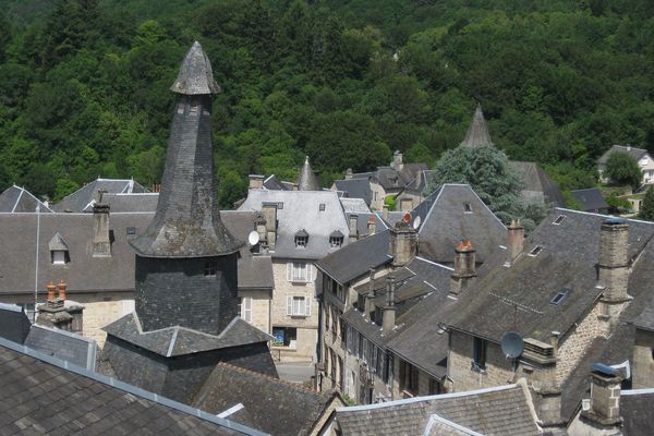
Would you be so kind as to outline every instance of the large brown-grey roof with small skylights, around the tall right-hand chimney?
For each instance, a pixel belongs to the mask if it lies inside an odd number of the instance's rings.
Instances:
[[[560,215],[559,225],[554,221]],[[600,226],[606,216],[555,209],[525,239],[523,254],[509,268],[502,267],[506,253],[498,252],[494,265],[463,294],[451,326],[499,342],[507,330],[524,338],[547,342],[549,332],[561,338],[590,311],[602,289],[595,287],[598,261]],[[629,220],[629,258],[640,254],[632,266],[632,277],[644,274],[647,256],[645,244],[654,237],[654,225]],[[535,246],[541,252],[529,255]],[[647,249],[649,251],[650,249]],[[484,265],[482,268],[486,268]],[[630,279],[629,293],[638,293],[641,280]],[[550,300],[561,290],[568,296],[555,305]],[[467,298],[469,295],[469,298]],[[514,311],[514,305],[518,311]]]

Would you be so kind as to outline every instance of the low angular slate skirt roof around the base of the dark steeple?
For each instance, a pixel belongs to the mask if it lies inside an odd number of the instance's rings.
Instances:
[[[104,330],[113,337],[166,358],[267,342],[274,339],[240,317],[235,317],[218,336],[180,326],[143,331],[135,312],[114,320]]]

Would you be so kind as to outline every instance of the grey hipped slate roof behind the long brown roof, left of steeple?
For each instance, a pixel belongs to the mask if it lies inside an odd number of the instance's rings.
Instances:
[[[102,203],[107,194],[136,194],[146,193],[147,190],[138,182],[131,179],[96,179],[90,183],[85,184],[77,191],[66,195],[61,202],[52,205],[55,211],[80,213],[88,210],[94,202],[99,199],[98,191],[105,191]],[[90,209],[93,211],[93,209]]]

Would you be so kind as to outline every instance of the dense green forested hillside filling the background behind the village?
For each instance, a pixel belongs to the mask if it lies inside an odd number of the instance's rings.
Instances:
[[[226,207],[305,155],[325,184],[393,149],[434,166],[476,101],[496,146],[565,190],[611,144],[654,152],[649,0],[0,0],[0,190],[158,181],[196,39],[223,89]]]

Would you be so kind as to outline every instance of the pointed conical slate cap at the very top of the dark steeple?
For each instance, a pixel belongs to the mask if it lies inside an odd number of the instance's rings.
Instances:
[[[211,62],[209,62],[209,58],[207,58],[198,41],[193,43],[193,46],[186,52],[178,78],[170,90],[185,95],[220,93],[220,86],[214,80]]]

